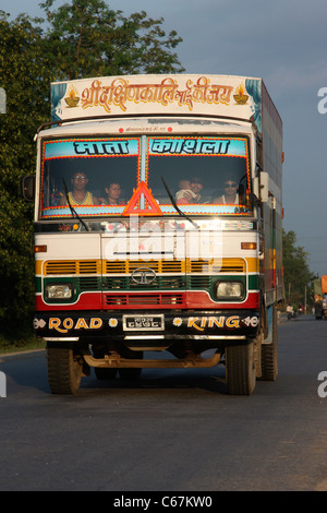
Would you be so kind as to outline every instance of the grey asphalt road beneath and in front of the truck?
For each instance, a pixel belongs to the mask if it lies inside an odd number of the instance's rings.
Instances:
[[[75,396],[50,394],[44,351],[0,370],[0,490],[327,491],[325,321],[279,325],[278,380],[251,396],[227,395],[220,366],[92,373]]]

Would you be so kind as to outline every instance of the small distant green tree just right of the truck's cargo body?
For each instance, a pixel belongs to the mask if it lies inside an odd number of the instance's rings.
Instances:
[[[311,294],[311,284],[315,275],[310,271],[307,253],[302,247],[295,246],[294,231],[282,230],[282,263],[286,300],[296,305],[304,303],[304,291]]]

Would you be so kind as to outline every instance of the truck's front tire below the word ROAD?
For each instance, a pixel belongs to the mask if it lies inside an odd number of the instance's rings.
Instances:
[[[83,359],[73,349],[47,347],[48,381],[52,394],[75,394],[80,387]]]

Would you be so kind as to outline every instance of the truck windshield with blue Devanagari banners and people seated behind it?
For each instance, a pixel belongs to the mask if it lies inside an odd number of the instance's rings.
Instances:
[[[43,143],[40,218],[251,214],[246,138],[141,136]],[[68,194],[65,191],[68,190]]]

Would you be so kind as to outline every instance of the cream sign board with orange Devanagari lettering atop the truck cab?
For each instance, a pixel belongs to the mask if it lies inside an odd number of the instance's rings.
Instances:
[[[252,120],[262,132],[261,79],[231,75],[122,75],[51,84],[51,119],[137,115]]]

